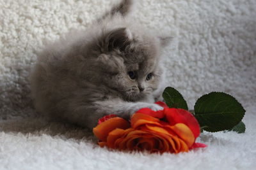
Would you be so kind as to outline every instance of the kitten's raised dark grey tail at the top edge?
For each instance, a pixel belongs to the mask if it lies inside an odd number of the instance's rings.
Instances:
[[[100,20],[104,20],[104,18],[112,17],[113,15],[120,14],[123,17],[131,11],[131,7],[133,4],[133,0],[122,0],[119,4],[113,6],[113,8],[108,11],[105,15],[103,15]]]

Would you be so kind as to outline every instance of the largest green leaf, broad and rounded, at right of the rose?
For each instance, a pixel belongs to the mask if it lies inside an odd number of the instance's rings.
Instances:
[[[231,129],[244,117],[243,106],[223,92],[211,92],[200,97],[194,106],[195,117],[205,131],[218,132]]]

